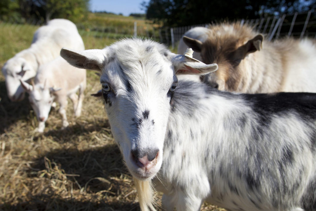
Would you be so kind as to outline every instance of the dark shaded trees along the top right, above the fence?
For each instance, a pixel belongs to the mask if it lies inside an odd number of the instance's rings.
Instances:
[[[316,0],[150,0],[142,6],[147,19],[175,27],[303,12],[316,9]]]

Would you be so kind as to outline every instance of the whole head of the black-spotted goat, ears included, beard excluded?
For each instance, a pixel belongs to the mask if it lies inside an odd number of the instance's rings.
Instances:
[[[106,111],[126,165],[138,179],[154,177],[162,164],[175,71],[207,65],[187,62],[149,40],[123,40],[103,50],[62,49],[61,56],[76,67],[102,71]]]

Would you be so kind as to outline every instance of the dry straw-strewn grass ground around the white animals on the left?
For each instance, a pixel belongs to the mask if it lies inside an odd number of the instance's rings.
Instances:
[[[35,26],[0,23],[0,68],[31,44]],[[86,49],[114,42],[82,37]],[[0,74],[0,210],[139,210],[132,177],[113,141],[103,102],[90,96],[100,88],[87,71],[82,115],[61,130],[52,109],[44,133],[35,133],[37,119],[28,99],[10,102]],[[161,194],[156,195],[158,206]],[[222,210],[204,204],[202,210]]]

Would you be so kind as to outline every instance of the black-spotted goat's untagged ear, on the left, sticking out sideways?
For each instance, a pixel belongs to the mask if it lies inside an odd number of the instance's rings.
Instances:
[[[70,65],[97,71],[101,71],[107,58],[105,50],[100,49],[75,51],[70,50],[69,48],[62,48],[60,56],[63,57]]]

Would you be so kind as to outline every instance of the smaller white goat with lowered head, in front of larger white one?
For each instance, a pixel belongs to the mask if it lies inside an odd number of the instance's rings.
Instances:
[[[69,125],[66,116],[67,97],[73,102],[75,116],[78,117],[81,114],[83,91],[86,88],[86,70],[68,64],[59,56],[40,66],[35,76],[35,84],[30,85],[21,80],[21,85],[29,93],[29,101],[39,121],[37,132],[44,132],[45,122],[53,102],[58,102],[60,105],[62,128],[65,128]],[[79,98],[77,91],[79,91]]]

